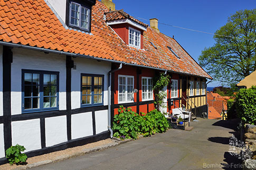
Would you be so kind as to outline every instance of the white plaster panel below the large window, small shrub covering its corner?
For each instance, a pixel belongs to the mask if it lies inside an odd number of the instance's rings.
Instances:
[[[16,144],[25,152],[41,149],[40,119],[12,122],[12,145]]]

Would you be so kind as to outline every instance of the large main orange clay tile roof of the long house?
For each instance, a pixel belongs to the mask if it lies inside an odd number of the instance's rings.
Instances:
[[[97,1],[92,7],[92,34],[86,34],[65,29],[44,0],[0,0],[0,41],[211,78],[175,39],[158,34],[150,27],[144,32],[144,49],[126,45],[103,19],[108,11]],[[157,49],[149,42],[153,42]],[[172,47],[181,59],[167,46]]]

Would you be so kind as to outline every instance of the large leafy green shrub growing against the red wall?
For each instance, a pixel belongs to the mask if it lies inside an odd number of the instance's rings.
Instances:
[[[136,139],[138,135],[150,136],[166,132],[169,127],[165,116],[156,109],[144,116],[131,111],[131,108],[120,106],[118,115],[114,116],[113,130],[115,137]]]

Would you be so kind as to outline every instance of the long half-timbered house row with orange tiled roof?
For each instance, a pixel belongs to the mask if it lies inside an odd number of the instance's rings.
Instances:
[[[157,19],[148,26],[114,7],[0,1],[0,163],[11,145],[35,156],[111,137],[120,105],[154,109],[159,73],[171,77],[163,112],[205,108],[211,76],[159,32]]]

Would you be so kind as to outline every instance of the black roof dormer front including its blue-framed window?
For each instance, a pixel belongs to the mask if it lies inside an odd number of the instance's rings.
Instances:
[[[66,24],[70,27],[82,29],[83,31],[91,31],[91,7],[96,0],[72,0],[69,1],[67,7]]]

